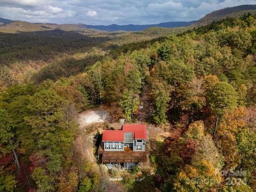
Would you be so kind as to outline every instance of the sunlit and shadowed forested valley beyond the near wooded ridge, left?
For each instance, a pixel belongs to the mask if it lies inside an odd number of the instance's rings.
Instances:
[[[60,77],[81,73],[86,66],[92,65],[109,52],[118,55],[123,50],[127,52],[133,43],[150,43],[151,40],[156,41],[156,38],[186,30],[156,27],[133,33],[107,33],[80,28],[73,31],[33,31],[34,25],[30,23],[30,28],[19,26],[28,30],[19,33],[13,33],[13,29],[5,26],[6,30],[0,32],[1,86],[22,82],[41,83],[47,78],[57,81]]]

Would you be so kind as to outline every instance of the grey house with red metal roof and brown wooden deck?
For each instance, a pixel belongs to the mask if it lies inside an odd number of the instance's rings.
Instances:
[[[102,133],[98,154],[102,163],[118,163],[124,169],[146,159],[147,129],[145,124],[123,124],[122,130]]]

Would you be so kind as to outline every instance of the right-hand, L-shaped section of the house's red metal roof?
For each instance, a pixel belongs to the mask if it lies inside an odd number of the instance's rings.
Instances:
[[[132,132],[134,139],[147,139],[147,131],[145,124],[124,124],[124,132]]]

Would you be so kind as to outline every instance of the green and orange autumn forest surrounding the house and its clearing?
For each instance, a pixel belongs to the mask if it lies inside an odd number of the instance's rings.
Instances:
[[[47,62],[23,82],[0,71],[0,191],[256,191],[255,15],[118,44],[56,33],[56,44],[0,34],[5,66]],[[31,51],[16,51],[17,38],[28,38],[20,45]],[[155,172],[140,182],[136,169],[108,181],[74,147],[76,116],[105,106],[116,121],[137,122],[141,102],[143,122],[170,133],[150,141]]]

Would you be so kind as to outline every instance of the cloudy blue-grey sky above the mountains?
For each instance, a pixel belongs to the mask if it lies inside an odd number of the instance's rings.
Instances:
[[[225,7],[256,0],[0,0],[0,17],[11,20],[88,25],[191,21]]]

